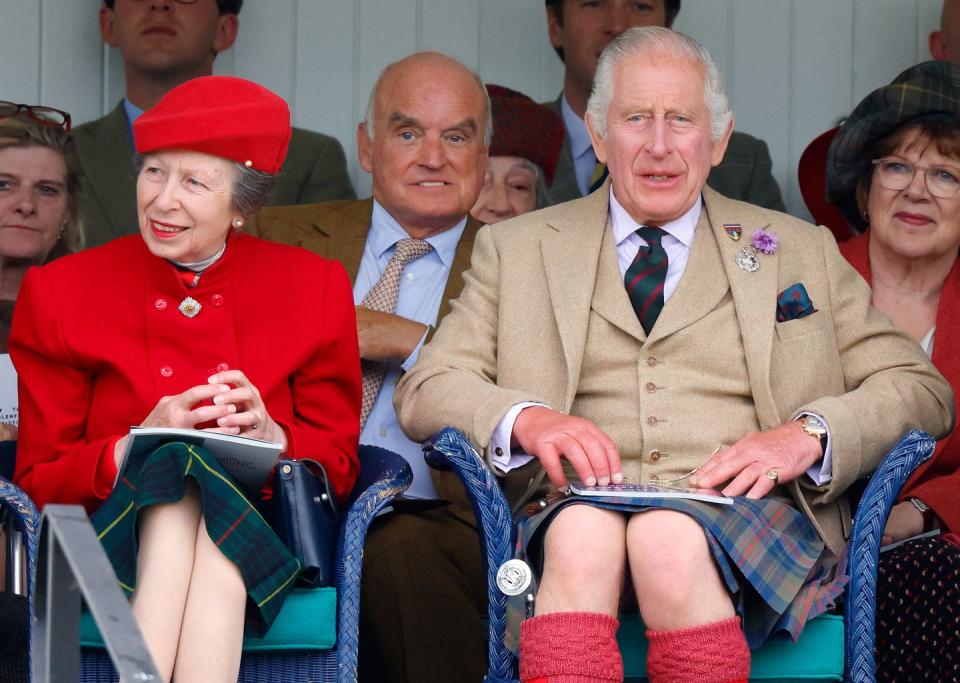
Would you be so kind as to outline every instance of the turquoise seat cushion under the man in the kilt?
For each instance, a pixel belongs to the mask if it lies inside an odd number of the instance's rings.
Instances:
[[[622,617],[617,640],[628,682],[645,681],[647,639],[636,617]],[[793,643],[773,641],[752,654],[751,681],[843,680],[843,618],[826,614],[813,619]]]

